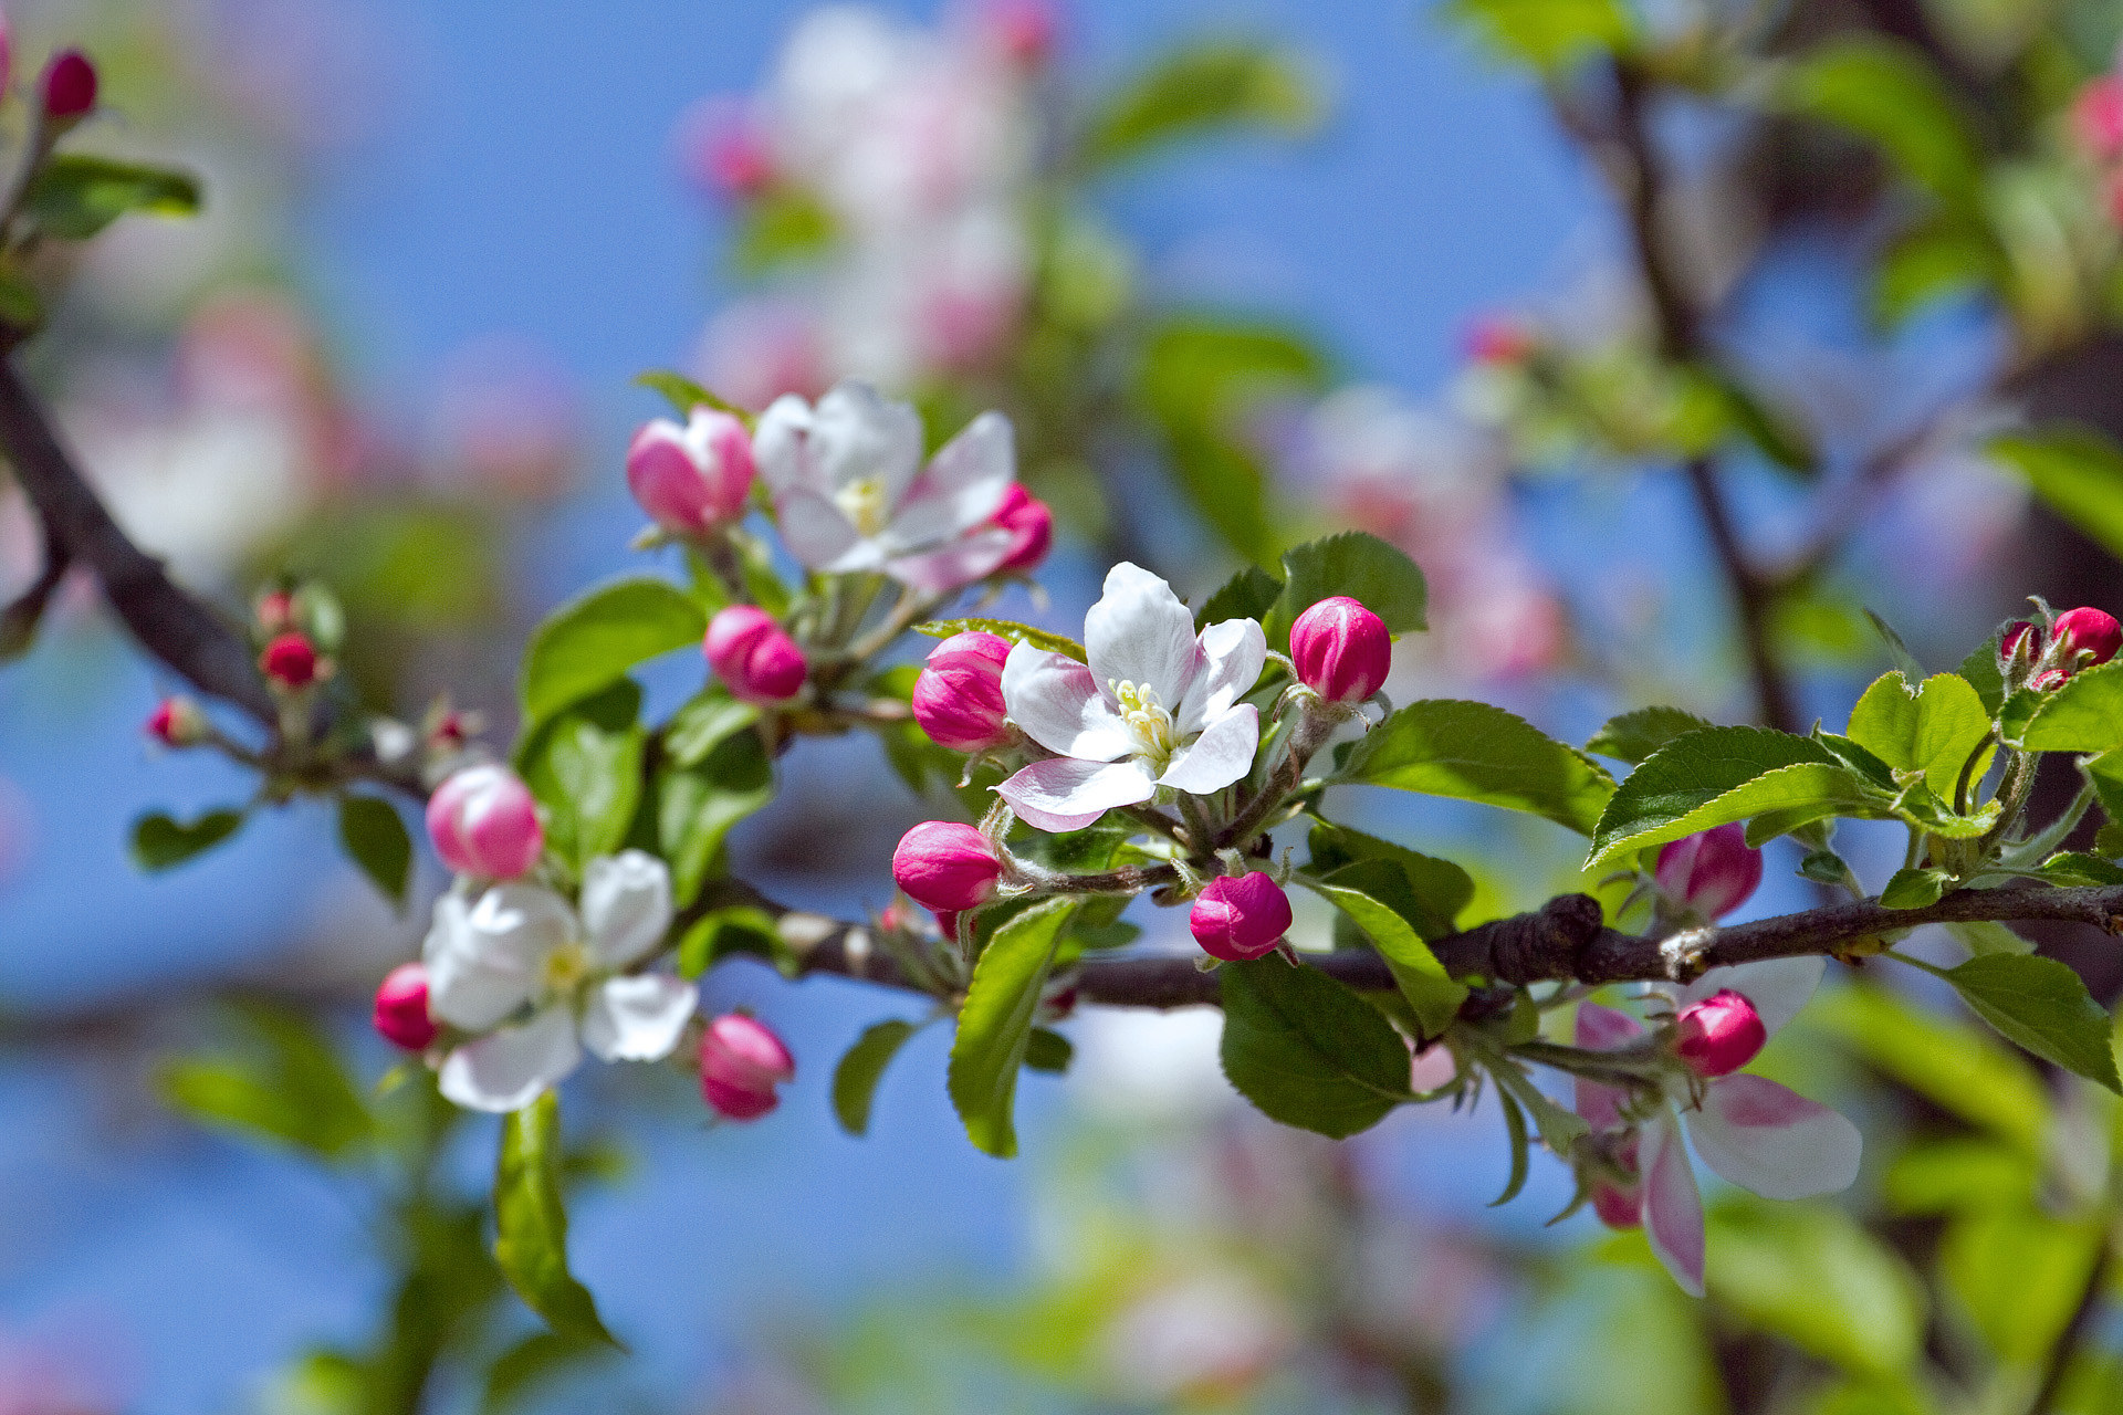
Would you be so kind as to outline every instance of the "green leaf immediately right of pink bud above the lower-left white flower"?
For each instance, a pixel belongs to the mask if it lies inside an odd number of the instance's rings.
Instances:
[[[577,870],[616,853],[633,832],[648,749],[639,711],[641,689],[620,679],[524,740],[522,776],[546,808],[546,849]]]

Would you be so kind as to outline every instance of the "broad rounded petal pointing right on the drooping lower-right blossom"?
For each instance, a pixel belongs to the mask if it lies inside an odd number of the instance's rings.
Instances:
[[[1819,1101],[1766,1076],[1722,1076],[1688,1114],[1696,1154],[1720,1177],[1762,1199],[1834,1194],[1858,1180],[1864,1137]]]

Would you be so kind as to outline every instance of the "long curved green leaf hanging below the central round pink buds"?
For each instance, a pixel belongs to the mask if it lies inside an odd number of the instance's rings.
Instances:
[[[1040,989],[1072,910],[1070,899],[1049,899],[996,929],[957,1012],[951,1103],[972,1146],[996,1158],[1017,1154],[1017,1129],[1011,1124],[1017,1069],[1025,1063]]]

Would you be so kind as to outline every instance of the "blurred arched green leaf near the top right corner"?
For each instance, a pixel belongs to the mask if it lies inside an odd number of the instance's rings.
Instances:
[[[1781,98],[1792,112],[1870,140],[1947,208],[1981,206],[1983,144],[1919,51],[1879,36],[1830,40],[1792,66]]]

